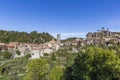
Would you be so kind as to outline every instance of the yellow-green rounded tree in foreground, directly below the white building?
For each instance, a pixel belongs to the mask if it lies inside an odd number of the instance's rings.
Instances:
[[[28,75],[25,80],[45,80],[49,71],[48,60],[35,59],[31,60],[28,65]]]

